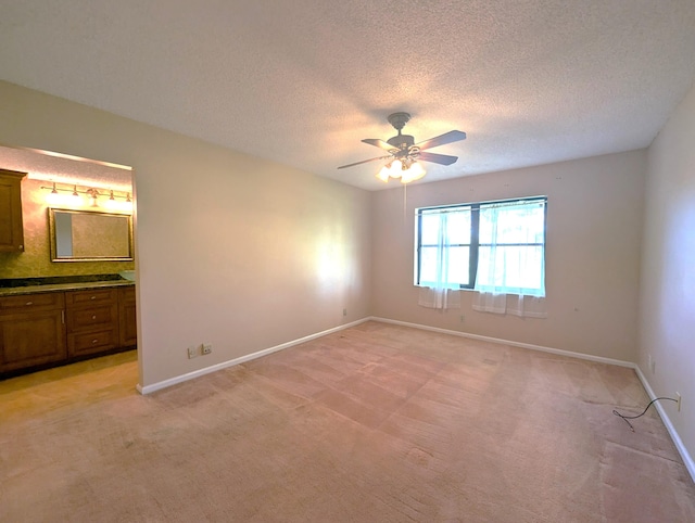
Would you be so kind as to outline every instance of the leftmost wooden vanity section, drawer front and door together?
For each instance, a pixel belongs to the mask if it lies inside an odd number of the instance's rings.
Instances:
[[[0,297],[0,372],[67,358],[63,293]]]

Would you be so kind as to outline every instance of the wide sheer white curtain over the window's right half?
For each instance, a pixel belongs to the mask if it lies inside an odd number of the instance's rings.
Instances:
[[[544,203],[480,208],[475,310],[545,318]]]

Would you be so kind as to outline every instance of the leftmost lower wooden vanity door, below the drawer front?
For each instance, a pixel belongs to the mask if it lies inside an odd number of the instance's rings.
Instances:
[[[0,372],[67,357],[62,310],[0,316]]]

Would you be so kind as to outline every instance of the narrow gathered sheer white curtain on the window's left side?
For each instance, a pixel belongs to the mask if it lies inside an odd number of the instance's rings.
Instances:
[[[456,270],[450,270],[451,241],[448,219],[448,213],[439,215],[434,281],[428,286],[420,288],[418,305],[422,307],[442,310],[460,307],[460,283],[450,281],[450,275],[456,272]]]

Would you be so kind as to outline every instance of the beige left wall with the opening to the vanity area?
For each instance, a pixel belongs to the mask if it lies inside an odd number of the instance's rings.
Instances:
[[[368,316],[367,192],[5,82],[0,113],[0,143],[134,167],[141,385]]]

